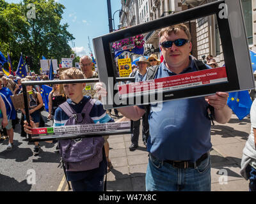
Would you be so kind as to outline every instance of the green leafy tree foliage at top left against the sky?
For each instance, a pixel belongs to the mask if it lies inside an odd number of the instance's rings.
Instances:
[[[36,18],[28,18],[29,3],[35,4]],[[70,57],[72,50],[68,41],[74,40],[68,24],[61,25],[65,6],[54,0],[23,0],[19,4],[8,4],[0,0],[0,50],[11,54],[13,69],[19,63],[20,52],[33,59],[31,69],[40,70],[40,59]]]

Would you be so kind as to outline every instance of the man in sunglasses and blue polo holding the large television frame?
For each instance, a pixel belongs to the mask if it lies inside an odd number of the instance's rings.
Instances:
[[[172,25],[159,33],[159,45],[164,61],[155,78],[163,78],[196,71],[189,55],[192,48],[188,27]],[[102,84],[99,94],[106,96]],[[148,123],[150,135],[146,174],[147,191],[211,191],[211,119],[224,124],[231,117],[227,106],[228,94],[216,92],[212,96],[177,99],[150,106]],[[143,106],[118,108],[125,117],[138,120]]]

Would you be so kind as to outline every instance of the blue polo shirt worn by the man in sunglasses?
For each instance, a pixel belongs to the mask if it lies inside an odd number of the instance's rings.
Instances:
[[[193,71],[196,71],[196,67],[191,60],[182,73]],[[155,78],[173,75],[176,74],[161,63]],[[175,99],[151,105],[148,115],[148,152],[163,160],[196,161],[212,147],[211,120],[207,107],[204,97]]]

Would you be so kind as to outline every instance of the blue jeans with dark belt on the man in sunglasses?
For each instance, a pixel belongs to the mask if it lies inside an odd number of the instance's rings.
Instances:
[[[147,191],[211,191],[211,161],[207,157],[196,168],[173,168],[172,164],[149,157]]]

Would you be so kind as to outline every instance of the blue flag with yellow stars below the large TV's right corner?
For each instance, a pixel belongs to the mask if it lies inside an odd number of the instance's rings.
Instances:
[[[231,92],[228,94],[227,104],[239,120],[242,120],[250,113],[252,99],[248,91]]]

